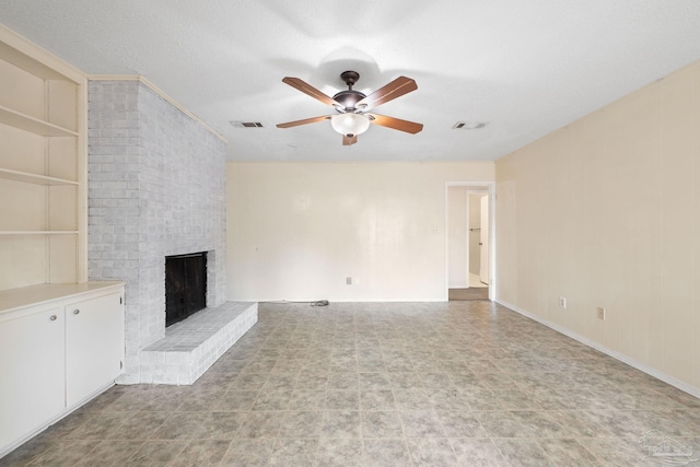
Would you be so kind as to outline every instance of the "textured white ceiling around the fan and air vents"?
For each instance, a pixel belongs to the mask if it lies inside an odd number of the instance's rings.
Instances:
[[[698,0],[0,0],[0,23],[88,73],[142,74],[229,140],[230,160],[495,160],[700,59]],[[339,74],[418,90],[342,147]],[[260,121],[235,129],[229,121]],[[488,121],[453,130],[457,121]]]

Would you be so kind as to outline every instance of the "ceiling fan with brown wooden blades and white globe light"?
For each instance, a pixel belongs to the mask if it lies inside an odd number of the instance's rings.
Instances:
[[[343,145],[351,145],[358,142],[358,135],[365,132],[371,124],[406,131],[411,135],[416,135],[423,129],[422,124],[368,113],[368,110],[374,107],[400,97],[404,94],[408,94],[411,91],[416,91],[418,85],[412,79],[399,77],[370,95],[364,95],[360,91],[352,89],[354,83],[360,79],[360,73],[357,71],[343,71],[340,73],[340,79],[348,85],[348,90],[340,91],[332,97],[329,97],[299,78],[285,77],[282,80],[283,83],[308,94],[324,104],[330,105],[336,109],[337,114],[288,121],[285,124],[279,124],[277,128],[291,128],[300,125],[315,124],[316,121],[330,120],[334,130],[342,135]]]

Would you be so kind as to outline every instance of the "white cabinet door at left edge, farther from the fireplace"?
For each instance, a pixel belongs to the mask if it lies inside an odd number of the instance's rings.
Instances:
[[[0,446],[65,409],[63,326],[61,308],[0,322]]]

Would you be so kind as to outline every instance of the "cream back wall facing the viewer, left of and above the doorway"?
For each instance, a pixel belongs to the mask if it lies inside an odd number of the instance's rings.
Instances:
[[[445,182],[490,182],[493,171],[492,162],[230,163],[226,295],[445,300]]]

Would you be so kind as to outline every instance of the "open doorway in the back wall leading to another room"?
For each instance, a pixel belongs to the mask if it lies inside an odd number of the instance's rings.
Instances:
[[[446,282],[448,300],[490,300],[492,184],[446,185]]]

